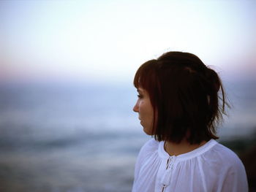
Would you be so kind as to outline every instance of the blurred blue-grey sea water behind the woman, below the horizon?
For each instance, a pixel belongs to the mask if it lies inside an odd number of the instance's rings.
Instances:
[[[229,82],[221,139],[255,130],[255,82]],[[132,85],[0,88],[0,191],[131,191],[147,137],[132,112]]]

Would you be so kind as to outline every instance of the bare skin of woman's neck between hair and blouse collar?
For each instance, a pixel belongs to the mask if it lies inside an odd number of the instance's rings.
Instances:
[[[192,150],[205,145],[206,141],[200,142],[200,144],[190,144],[187,139],[183,139],[180,143],[165,141],[165,151],[170,155],[181,155],[189,153]]]

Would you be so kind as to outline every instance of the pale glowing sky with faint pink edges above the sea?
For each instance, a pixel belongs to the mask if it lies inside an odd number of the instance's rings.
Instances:
[[[130,82],[167,51],[256,72],[256,1],[0,1],[0,82]]]

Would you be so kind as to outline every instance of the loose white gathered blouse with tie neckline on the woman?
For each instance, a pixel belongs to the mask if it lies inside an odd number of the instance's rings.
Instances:
[[[135,164],[132,192],[246,192],[244,165],[214,139],[189,153],[170,156],[150,139]]]

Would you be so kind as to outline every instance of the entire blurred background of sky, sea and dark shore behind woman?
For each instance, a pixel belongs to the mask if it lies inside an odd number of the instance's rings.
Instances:
[[[134,74],[171,50],[215,69],[219,142],[256,181],[256,1],[0,1],[0,191],[131,191],[151,137]]]

